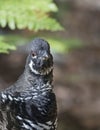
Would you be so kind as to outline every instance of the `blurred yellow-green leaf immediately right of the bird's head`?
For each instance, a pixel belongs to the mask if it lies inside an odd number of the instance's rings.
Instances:
[[[73,48],[82,47],[82,41],[79,39],[65,39],[65,38],[47,38],[51,48],[56,53],[66,53]]]

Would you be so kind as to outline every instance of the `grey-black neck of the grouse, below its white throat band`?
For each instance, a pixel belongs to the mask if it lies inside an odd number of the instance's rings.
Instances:
[[[44,88],[52,89],[53,72],[51,71],[48,75],[36,75],[30,71],[28,67],[25,68],[24,78],[31,83],[33,87],[38,90]]]

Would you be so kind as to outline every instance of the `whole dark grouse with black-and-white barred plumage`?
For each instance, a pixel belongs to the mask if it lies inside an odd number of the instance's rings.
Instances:
[[[0,130],[56,130],[52,73],[49,44],[37,38],[31,43],[23,74],[0,92]]]

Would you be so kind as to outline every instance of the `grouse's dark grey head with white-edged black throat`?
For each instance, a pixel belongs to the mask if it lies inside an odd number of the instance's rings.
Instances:
[[[27,64],[36,75],[47,75],[53,70],[53,57],[47,41],[40,38],[32,41]]]

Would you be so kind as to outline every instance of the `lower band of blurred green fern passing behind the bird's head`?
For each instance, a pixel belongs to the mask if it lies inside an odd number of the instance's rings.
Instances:
[[[34,36],[23,36],[23,35],[16,35],[16,34],[9,34],[6,36],[1,36],[0,41],[0,53],[8,53],[9,49],[15,50],[16,46],[24,45],[29,41],[32,41],[35,37],[41,37],[46,39],[51,46],[53,52],[56,53],[66,53],[72,50],[73,48],[82,47],[82,41],[79,39],[66,39],[61,38],[58,36],[49,36],[48,34],[35,34]],[[8,43],[8,44],[7,44]]]

